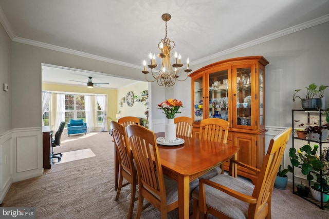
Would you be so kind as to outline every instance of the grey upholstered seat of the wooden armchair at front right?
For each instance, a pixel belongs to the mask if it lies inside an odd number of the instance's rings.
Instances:
[[[253,186],[250,186],[237,178],[226,174],[216,175],[209,179],[212,182],[221,184],[241,193],[252,195]],[[246,218],[248,215],[249,204],[238,200],[218,189],[205,185],[206,203],[218,211],[226,214],[230,218]],[[192,192],[192,197],[199,200],[199,187]]]

